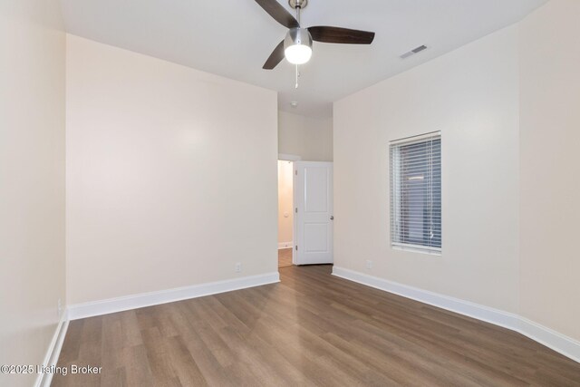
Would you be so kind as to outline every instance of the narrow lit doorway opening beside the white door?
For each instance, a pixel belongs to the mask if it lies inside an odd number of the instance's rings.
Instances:
[[[278,160],[278,267],[292,266],[294,248],[294,161]]]

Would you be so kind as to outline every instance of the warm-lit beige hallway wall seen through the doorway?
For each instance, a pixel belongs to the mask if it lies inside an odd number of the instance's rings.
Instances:
[[[278,245],[294,240],[293,163],[278,161]]]

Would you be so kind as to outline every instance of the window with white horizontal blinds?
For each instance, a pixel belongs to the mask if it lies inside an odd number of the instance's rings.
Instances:
[[[441,252],[440,132],[391,141],[391,246]]]

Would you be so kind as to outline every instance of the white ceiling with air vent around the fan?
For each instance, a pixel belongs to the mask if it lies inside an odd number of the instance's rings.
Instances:
[[[291,11],[286,0],[278,0]],[[546,0],[310,0],[303,26],[376,32],[370,46],[314,43],[295,68],[262,65],[285,36],[254,0],[62,0],[67,31],[278,92],[283,111],[332,115],[332,102],[513,24]],[[399,56],[426,44],[429,50]],[[290,102],[297,101],[297,109]]]

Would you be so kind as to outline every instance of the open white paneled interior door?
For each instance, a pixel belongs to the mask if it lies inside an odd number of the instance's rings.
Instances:
[[[295,265],[333,263],[333,163],[296,161]]]

